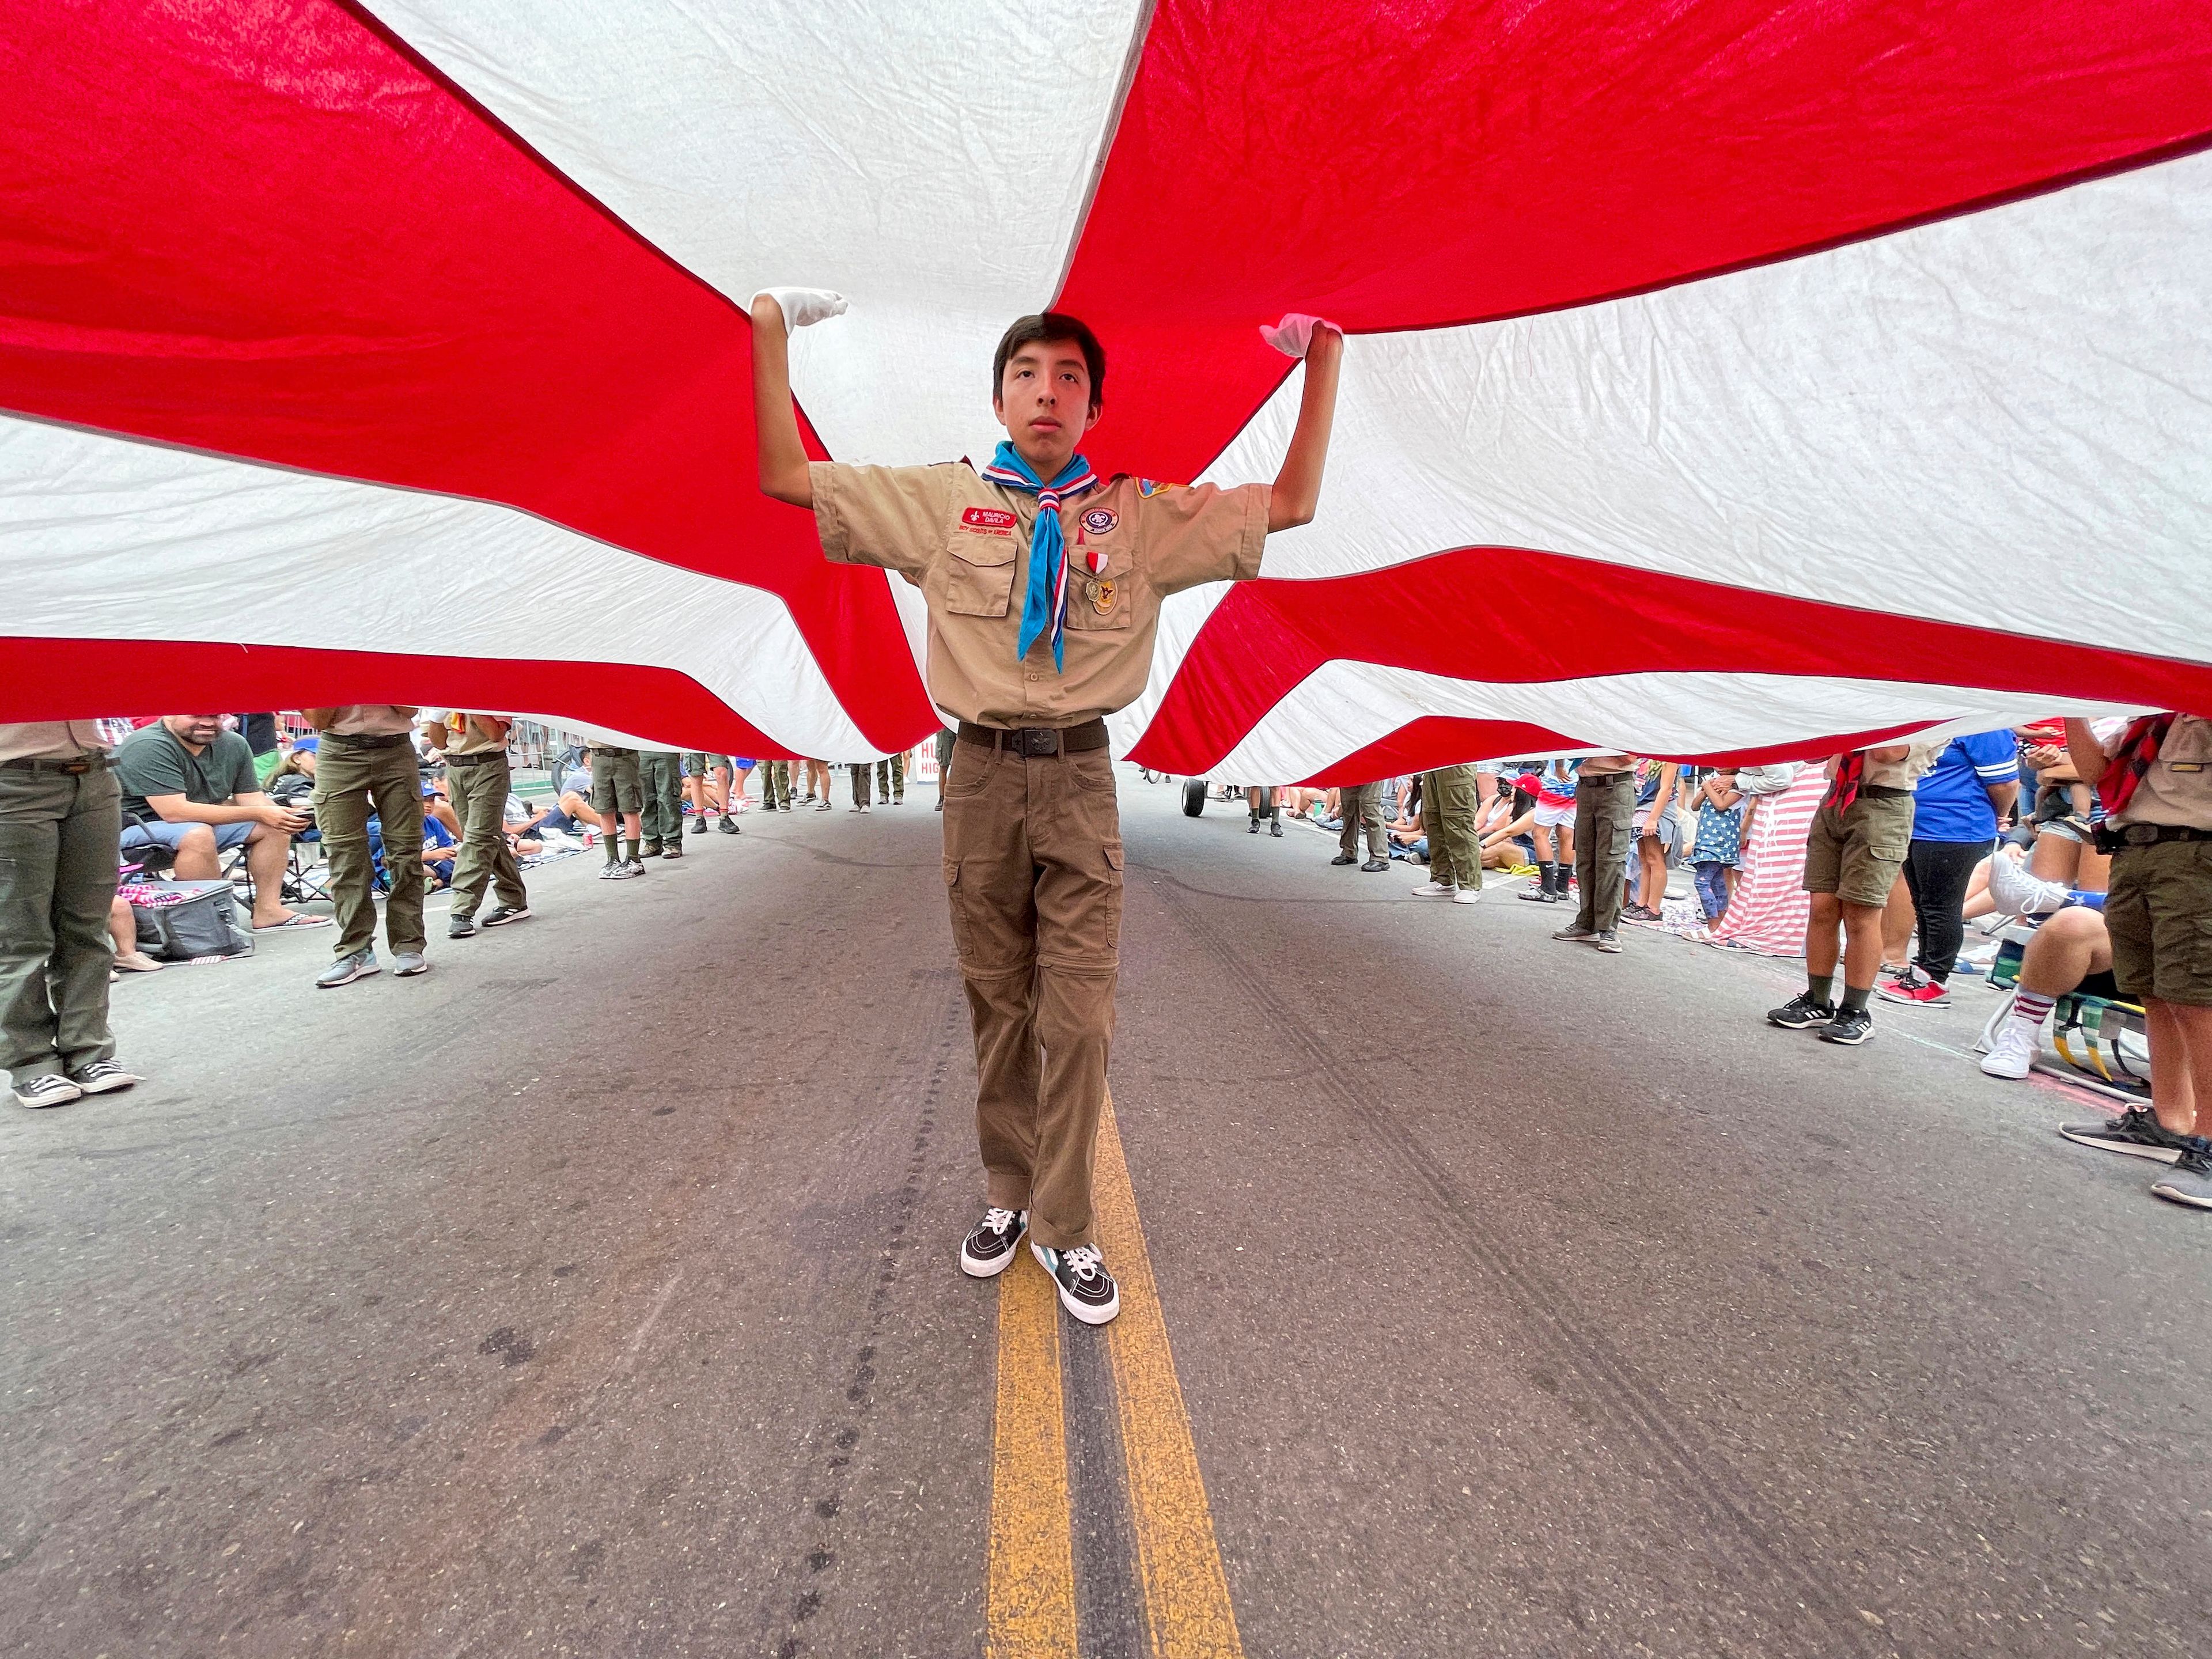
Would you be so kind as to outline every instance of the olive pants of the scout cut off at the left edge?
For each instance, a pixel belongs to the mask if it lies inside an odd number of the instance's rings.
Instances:
[[[115,774],[0,768],[0,1066],[27,1084],[115,1060]]]

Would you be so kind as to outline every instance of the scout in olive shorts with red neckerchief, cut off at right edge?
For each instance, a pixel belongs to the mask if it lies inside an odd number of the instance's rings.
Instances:
[[[2075,772],[2097,790],[2112,847],[2104,925],[2112,978],[2143,1004],[2150,1108],[2059,1133],[2170,1161],[2161,1199],[2212,1210],[2212,719],[2143,714],[2110,743],[2066,721]]]

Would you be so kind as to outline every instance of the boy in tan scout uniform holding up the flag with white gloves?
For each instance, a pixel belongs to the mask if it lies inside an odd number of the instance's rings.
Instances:
[[[960,719],[945,781],[945,889],[989,1183],[960,1265],[978,1279],[1002,1272],[1026,1230],[1060,1303],[1102,1325],[1121,1307],[1091,1212],[1121,942],[1104,717],[1144,690],[1166,595],[1259,575],[1267,531],[1312,520],[1343,336],[1316,319],[1285,319],[1270,336],[1307,356],[1272,489],[1183,489],[1102,480],[1077,453],[1099,418],[1106,354],[1055,312],[1020,319],[998,345],[991,407],[1006,442],[989,467],[810,465],[785,319],[841,310],[810,290],[754,296],[761,489],[814,511],[832,562],[898,571],[922,591],[929,695]]]

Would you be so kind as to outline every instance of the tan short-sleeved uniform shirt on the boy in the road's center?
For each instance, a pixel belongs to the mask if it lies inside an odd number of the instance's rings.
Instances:
[[[814,526],[836,564],[898,571],[929,599],[929,695],[978,726],[1082,726],[1144,692],[1159,602],[1259,575],[1267,484],[1144,487],[1119,476],[1060,509],[1068,557],[1066,672],[1051,630],[1013,646],[1029,593],[1037,498],[945,467],[812,462]],[[1088,553],[1104,551],[1097,597]]]

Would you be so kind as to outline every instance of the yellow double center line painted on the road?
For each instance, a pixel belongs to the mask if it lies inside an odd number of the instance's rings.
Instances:
[[[1095,1170],[1099,1250],[1121,1285],[1121,1314],[1106,1329],[1106,1347],[1150,1652],[1243,1659],[1110,1099],[1099,1119]],[[1018,1261],[1000,1276],[984,1621],[989,1659],[1079,1655],[1060,1298],[1033,1261]]]

